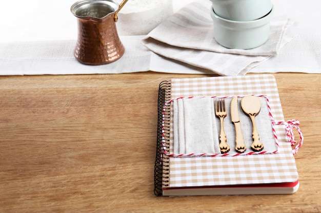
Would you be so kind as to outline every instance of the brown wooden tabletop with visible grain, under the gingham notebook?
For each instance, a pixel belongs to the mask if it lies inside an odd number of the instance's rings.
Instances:
[[[298,192],[176,198],[153,194],[158,84],[208,76],[0,77],[0,212],[320,212],[321,75],[274,76],[305,136]]]

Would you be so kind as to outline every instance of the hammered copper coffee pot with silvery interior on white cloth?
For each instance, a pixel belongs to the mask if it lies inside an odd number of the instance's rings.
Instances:
[[[75,58],[90,65],[111,63],[124,55],[125,48],[118,37],[117,14],[128,0],[118,5],[113,0],[80,0],[70,11],[78,20]]]

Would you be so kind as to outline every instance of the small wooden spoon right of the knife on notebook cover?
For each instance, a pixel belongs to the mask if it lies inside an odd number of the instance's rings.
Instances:
[[[264,145],[259,141],[259,134],[255,125],[255,116],[261,110],[261,102],[256,96],[246,96],[241,100],[241,107],[245,114],[250,116],[253,126],[252,138],[253,143],[251,145],[251,149],[254,152],[259,152],[264,149]]]

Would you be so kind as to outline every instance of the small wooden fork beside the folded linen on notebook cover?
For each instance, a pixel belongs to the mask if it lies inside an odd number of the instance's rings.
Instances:
[[[220,121],[220,134],[219,134],[219,149],[220,153],[225,154],[230,151],[230,146],[226,143],[226,134],[224,131],[224,118],[227,115],[225,100],[219,99],[215,100],[215,115]]]

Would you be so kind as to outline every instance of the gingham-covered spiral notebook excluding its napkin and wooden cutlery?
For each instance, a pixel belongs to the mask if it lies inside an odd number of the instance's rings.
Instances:
[[[174,153],[173,102],[175,100],[233,97],[241,99],[245,96],[260,97],[262,106],[265,106],[255,117],[258,123],[264,123],[259,120],[260,116],[265,116],[262,114],[270,117],[269,122],[265,121],[265,123],[268,123],[271,128],[259,130],[260,136],[266,137],[265,148],[262,151],[254,152],[247,147],[246,152],[237,153],[233,150],[235,139],[233,141],[228,136],[228,144],[231,146],[229,153],[222,154],[217,150],[210,153]],[[227,111],[227,117],[229,117],[229,110]],[[241,113],[239,111],[239,114]],[[230,121],[226,118],[224,125],[227,127],[233,125]],[[175,125],[179,124],[175,123]],[[272,75],[171,79],[161,82],[158,92],[155,195],[295,193],[298,190],[299,181],[293,155],[298,145],[294,152],[293,144],[289,143],[289,135],[287,135],[289,130],[286,130],[286,126],[276,81]],[[264,136],[264,131],[267,131],[267,136]],[[244,135],[249,134],[244,133]],[[301,139],[303,140],[303,137]],[[268,144],[271,146],[267,146]],[[266,147],[269,147],[269,150],[265,150]]]

